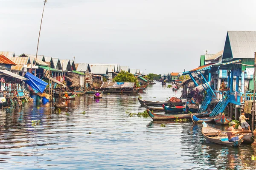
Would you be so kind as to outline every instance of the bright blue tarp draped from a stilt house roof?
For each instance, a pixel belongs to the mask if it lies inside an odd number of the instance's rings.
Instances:
[[[44,82],[43,80],[39,79],[38,77],[35,77],[33,74],[29,72],[27,72],[24,77],[28,79],[25,81],[28,85],[30,85],[33,89],[36,89],[41,93],[44,92],[44,89],[48,85],[47,82]]]

